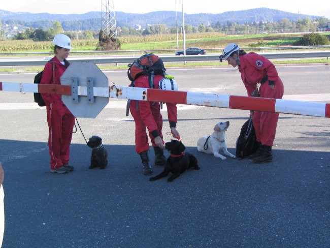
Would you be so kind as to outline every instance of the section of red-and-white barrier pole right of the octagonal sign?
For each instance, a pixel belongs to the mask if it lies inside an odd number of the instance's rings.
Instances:
[[[111,98],[330,117],[330,104],[149,88],[110,87]]]

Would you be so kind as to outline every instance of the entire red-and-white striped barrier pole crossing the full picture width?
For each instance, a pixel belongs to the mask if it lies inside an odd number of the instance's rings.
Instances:
[[[41,92],[71,95],[68,85],[41,85],[33,83],[0,82],[0,90],[19,92]],[[87,96],[87,87],[78,86],[78,95]],[[330,117],[330,104],[283,99],[253,98],[218,95],[201,92],[168,91],[149,88],[110,86],[94,87],[94,97],[110,97],[152,102],[208,106],[218,108],[259,110],[267,112]]]

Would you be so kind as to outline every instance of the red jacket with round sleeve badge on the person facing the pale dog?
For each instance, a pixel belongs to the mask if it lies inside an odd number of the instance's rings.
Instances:
[[[268,81],[276,83],[279,80],[274,64],[264,56],[250,52],[240,56],[240,63],[239,71],[249,97],[252,96],[252,91],[256,89],[257,83],[260,83],[266,75]]]

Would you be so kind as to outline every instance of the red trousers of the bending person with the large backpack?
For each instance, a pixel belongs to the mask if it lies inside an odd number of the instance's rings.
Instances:
[[[139,154],[142,151],[148,151],[150,147],[149,147],[149,140],[147,135],[147,128],[144,121],[141,118],[140,111],[137,110],[136,105],[137,105],[137,101],[131,100],[129,105],[129,110],[135,122],[135,150]],[[152,116],[154,120],[156,121],[159,137],[162,139],[163,136],[161,133],[161,129],[162,129],[163,121],[162,121],[162,115],[160,113],[160,104],[158,102],[151,104],[150,110],[152,112]],[[149,133],[149,137],[151,140],[151,145],[156,146],[154,137],[150,133]]]

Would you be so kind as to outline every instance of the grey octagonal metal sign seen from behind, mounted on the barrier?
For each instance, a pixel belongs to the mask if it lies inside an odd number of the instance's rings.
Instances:
[[[61,76],[61,85],[70,85],[72,95],[62,95],[63,103],[76,117],[95,118],[109,103],[107,76],[92,62],[73,62]],[[102,89],[103,96],[94,94]]]

